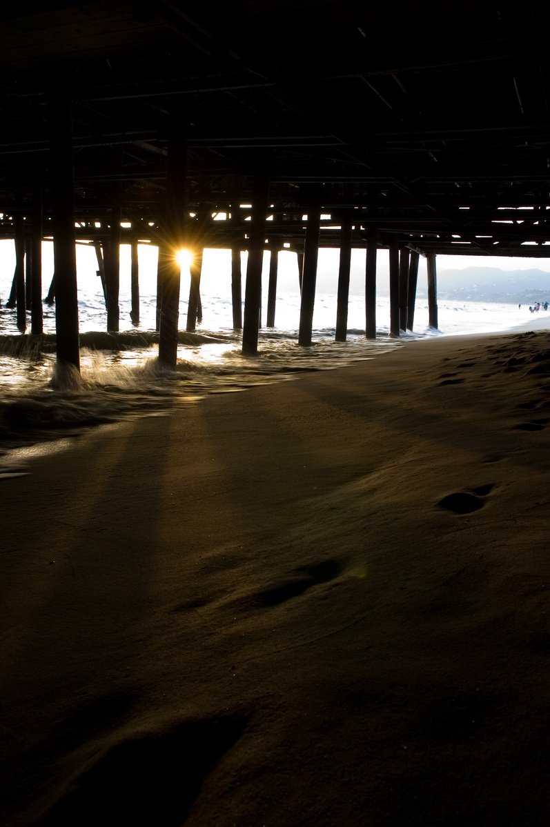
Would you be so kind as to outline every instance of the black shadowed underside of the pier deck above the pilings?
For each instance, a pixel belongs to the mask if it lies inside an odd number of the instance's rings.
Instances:
[[[339,244],[544,256],[550,119],[543,2],[26,2],[0,12],[2,232],[44,189],[48,99],[72,102],[75,214],[158,224],[170,114],[189,210],[246,218],[269,178],[270,233],[303,243],[312,189]],[[208,243],[227,246],[227,227]],[[237,235],[242,227],[235,229]],[[244,241],[244,238],[243,238]]]

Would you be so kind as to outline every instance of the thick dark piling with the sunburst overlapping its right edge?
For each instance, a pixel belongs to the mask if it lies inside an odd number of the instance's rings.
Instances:
[[[159,363],[175,370],[178,361],[179,284],[181,265],[177,251],[185,243],[185,171],[187,165],[187,117],[175,104],[170,113],[168,181],[165,210],[164,255],[160,256],[161,299]]]

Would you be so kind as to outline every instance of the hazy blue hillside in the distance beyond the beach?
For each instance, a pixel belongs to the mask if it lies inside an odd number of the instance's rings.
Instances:
[[[418,282],[418,297],[426,295],[426,284]],[[498,267],[438,270],[438,299],[510,304],[550,301],[550,273],[534,268],[500,270]]]

